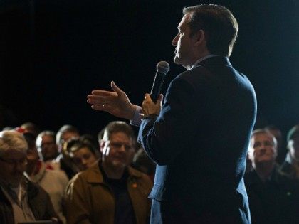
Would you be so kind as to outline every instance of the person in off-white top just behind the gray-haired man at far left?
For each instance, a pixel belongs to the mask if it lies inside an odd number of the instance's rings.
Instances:
[[[36,138],[31,133],[24,133],[23,136],[28,144],[28,164],[25,176],[33,183],[41,186],[49,194],[55,212],[63,223],[66,223],[63,216],[63,196],[68,185],[68,177],[63,171],[46,169],[46,164],[38,158]]]

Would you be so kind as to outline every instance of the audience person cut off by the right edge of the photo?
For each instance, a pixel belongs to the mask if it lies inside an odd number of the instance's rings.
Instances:
[[[288,132],[287,144],[288,154],[280,167],[280,171],[290,178],[299,179],[299,125],[294,126]]]

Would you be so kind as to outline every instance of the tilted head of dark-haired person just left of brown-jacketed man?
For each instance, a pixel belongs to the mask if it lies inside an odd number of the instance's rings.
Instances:
[[[93,166],[98,160],[98,154],[91,144],[83,143],[81,140],[73,140],[75,143],[70,146],[70,157],[80,171]]]

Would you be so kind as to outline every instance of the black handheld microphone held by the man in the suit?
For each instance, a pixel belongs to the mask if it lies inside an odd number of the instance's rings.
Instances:
[[[162,84],[164,82],[165,75],[168,73],[168,71],[169,71],[169,63],[167,63],[164,60],[157,63],[157,72],[156,75],[154,76],[154,83],[152,84],[152,90],[150,91],[150,97],[154,102],[157,102]]]

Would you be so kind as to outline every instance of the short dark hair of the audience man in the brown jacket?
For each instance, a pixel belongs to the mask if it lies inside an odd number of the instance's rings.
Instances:
[[[128,137],[132,138],[133,142],[135,141],[135,134],[132,127],[126,122],[121,121],[110,122],[109,124],[107,124],[107,126],[104,129],[103,139],[109,140],[111,134],[117,132],[123,132],[127,134]]]

